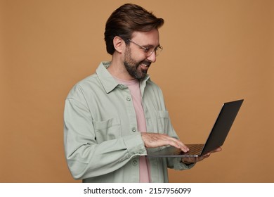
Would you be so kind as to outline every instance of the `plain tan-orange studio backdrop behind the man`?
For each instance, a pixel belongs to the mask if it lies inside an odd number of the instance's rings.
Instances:
[[[110,60],[105,21],[126,2],[0,1],[0,182],[77,182],[63,151],[65,97]],[[223,151],[170,170],[170,182],[274,182],[274,1],[131,2],[165,19],[150,75],[182,141],[204,142],[221,104],[245,99]]]

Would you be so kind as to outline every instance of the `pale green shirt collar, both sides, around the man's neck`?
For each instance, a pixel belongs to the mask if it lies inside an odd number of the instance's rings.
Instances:
[[[101,62],[96,70],[96,74],[103,85],[105,92],[108,94],[110,91],[119,87],[118,82],[114,77],[107,71],[107,68],[110,66],[110,61]],[[150,79],[149,75],[146,75],[145,79],[141,81],[141,87],[145,88],[146,82]]]

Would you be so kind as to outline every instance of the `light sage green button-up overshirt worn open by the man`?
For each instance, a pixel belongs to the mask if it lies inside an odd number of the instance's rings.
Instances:
[[[67,165],[83,182],[139,182],[139,155],[147,150],[137,130],[131,93],[100,63],[96,73],[78,82],[65,101],[64,142]],[[140,82],[148,132],[178,138],[161,89],[149,76]],[[152,182],[168,182],[167,168],[189,169],[180,158],[149,158]]]

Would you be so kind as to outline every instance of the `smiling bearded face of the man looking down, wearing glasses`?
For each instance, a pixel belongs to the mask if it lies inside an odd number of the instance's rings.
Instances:
[[[155,48],[159,46],[159,32],[158,30],[134,32],[131,40],[143,47]],[[151,63],[156,61],[156,54],[153,52],[150,56],[146,56],[144,49],[138,46],[138,44],[130,42],[130,44],[126,46],[124,67],[131,77],[142,80],[148,72]]]

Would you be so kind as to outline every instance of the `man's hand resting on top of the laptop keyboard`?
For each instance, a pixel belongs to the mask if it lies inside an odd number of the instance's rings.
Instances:
[[[167,134],[141,133],[146,148],[156,148],[159,146],[174,146],[180,148],[183,152],[188,152],[189,148],[178,139]]]

